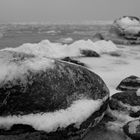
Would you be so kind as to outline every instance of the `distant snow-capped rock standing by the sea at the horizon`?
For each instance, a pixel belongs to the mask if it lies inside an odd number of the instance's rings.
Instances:
[[[116,19],[110,32],[116,34],[118,42],[140,44],[140,19],[133,16],[123,16]]]

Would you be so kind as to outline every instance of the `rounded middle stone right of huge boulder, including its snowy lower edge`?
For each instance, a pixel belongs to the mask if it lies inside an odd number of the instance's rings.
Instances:
[[[116,93],[111,97],[109,107],[114,117],[127,122],[129,118],[140,117],[140,96],[135,91]]]

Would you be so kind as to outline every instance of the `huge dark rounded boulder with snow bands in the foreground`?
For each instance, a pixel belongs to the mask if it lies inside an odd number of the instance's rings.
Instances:
[[[103,117],[109,91],[88,69],[0,52],[0,139],[81,139]]]

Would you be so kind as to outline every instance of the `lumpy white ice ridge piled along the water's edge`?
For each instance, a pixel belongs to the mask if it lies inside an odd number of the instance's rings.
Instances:
[[[112,41],[105,40],[96,42],[92,42],[91,40],[79,40],[70,45],[62,45],[59,43],[52,43],[49,40],[43,40],[39,43],[26,43],[17,48],[6,48],[3,50],[24,52],[26,54],[33,54],[50,58],[63,58],[83,56],[81,54],[82,49],[93,50],[99,54],[118,50],[118,48]]]

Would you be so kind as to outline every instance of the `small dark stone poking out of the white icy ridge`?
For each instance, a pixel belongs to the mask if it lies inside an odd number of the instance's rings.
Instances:
[[[92,50],[81,50],[80,53],[85,57],[100,57],[100,55]]]

